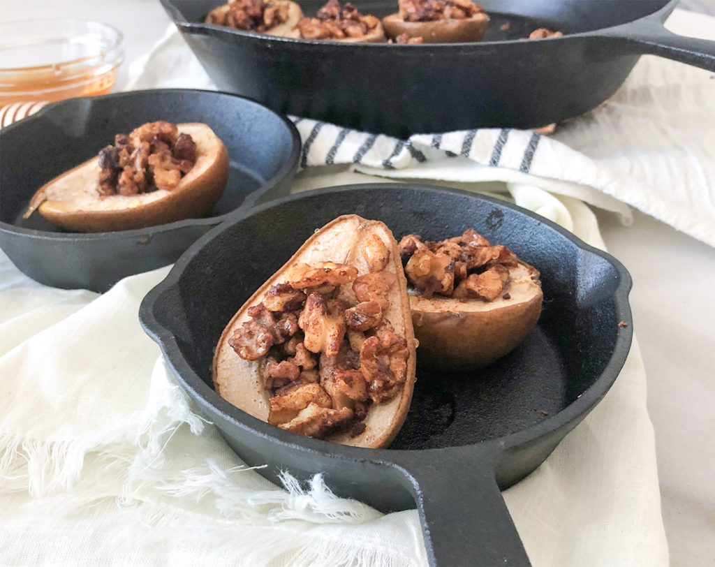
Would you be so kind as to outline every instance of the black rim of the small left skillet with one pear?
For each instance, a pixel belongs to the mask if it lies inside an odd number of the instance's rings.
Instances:
[[[210,94],[220,94],[220,95],[225,95],[228,97],[235,97],[237,99],[244,99],[247,102],[251,102],[253,104],[257,104],[257,106],[262,107],[263,109],[267,110],[268,112],[271,112],[272,114],[275,114],[275,117],[280,119],[285,124],[285,127],[287,128],[287,131],[290,133],[290,137],[292,139],[292,149],[290,152],[290,157],[286,160],[286,162],[280,167],[280,169],[276,172],[276,174],[268,179],[265,183],[262,183],[261,186],[258,189],[255,189],[255,191],[250,192],[249,194],[246,195],[244,201],[242,204],[240,204],[238,207],[233,209],[232,211],[225,212],[223,215],[218,215],[217,217],[202,217],[199,219],[184,219],[184,220],[177,220],[174,222],[168,222],[165,223],[164,225],[154,225],[151,227],[144,227],[144,228],[137,228],[133,230],[114,230],[114,231],[109,231],[109,232],[48,232],[46,230],[37,230],[37,229],[30,229],[30,228],[24,228],[24,227],[18,227],[17,225],[13,225],[8,222],[2,222],[0,221],[0,232],[7,232],[12,235],[20,235],[20,236],[26,236],[26,237],[32,237],[32,238],[40,238],[43,240],[77,240],[78,238],[81,240],[114,240],[117,238],[134,238],[134,237],[142,237],[147,234],[147,232],[151,232],[152,235],[156,235],[157,233],[160,232],[169,232],[172,230],[179,230],[184,227],[189,227],[189,226],[203,226],[203,225],[220,225],[222,222],[225,222],[231,215],[234,215],[237,210],[251,207],[253,202],[257,198],[259,198],[263,193],[271,189],[272,187],[275,187],[275,185],[279,184],[283,179],[288,177],[292,172],[295,172],[295,170],[298,167],[298,163],[300,161],[300,152],[302,151],[302,144],[300,142],[300,134],[298,133],[297,128],[295,127],[295,124],[288,119],[285,114],[282,114],[280,112],[276,112],[275,110],[267,107],[265,104],[262,104],[261,102],[258,102],[256,99],[252,99],[251,97],[243,97],[240,94],[234,94],[231,92],[227,91],[211,91],[207,89],[140,89],[136,91],[123,91],[123,92],[114,92],[110,94],[103,94],[100,95],[99,97],[83,97],[84,99],[87,99],[89,101],[89,104],[93,104],[95,100],[104,100],[104,99],[114,99],[114,98],[122,98],[122,97],[127,97],[127,96],[132,96],[134,94],[146,94],[146,93],[156,93],[156,94],[162,94],[162,93],[171,93],[171,92],[179,92],[179,93],[210,93]],[[15,129],[17,127],[22,127],[23,123],[26,124],[26,120],[32,120],[35,117],[39,118],[42,117],[44,114],[51,114],[54,112],[56,108],[61,108],[62,105],[64,104],[72,104],[74,101],[77,101],[79,97],[74,97],[71,99],[65,99],[57,102],[53,102],[51,104],[48,104],[46,107],[41,108],[38,112],[35,114],[31,114],[31,116],[26,117],[24,119],[19,120],[18,122],[14,122],[14,124],[9,124],[8,126],[4,127],[3,129],[0,129],[0,137],[2,137],[4,132],[9,132],[12,129]],[[229,157],[230,159],[230,157]]]

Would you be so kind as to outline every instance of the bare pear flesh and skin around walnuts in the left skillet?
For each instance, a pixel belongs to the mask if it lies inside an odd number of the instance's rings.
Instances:
[[[152,124],[169,123],[144,126]],[[206,124],[176,127],[179,136],[184,134],[194,142],[195,160],[185,174],[180,172],[180,178],[167,184],[170,189],[152,186],[136,194],[107,194],[100,186],[103,168],[94,157],[44,184],[32,197],[24,217],[38,209],[53,225],[73,232],[131,230],[202,217],[226,187],[228,152]],[[152,170],[147,164],[144,167],[147,172]]]

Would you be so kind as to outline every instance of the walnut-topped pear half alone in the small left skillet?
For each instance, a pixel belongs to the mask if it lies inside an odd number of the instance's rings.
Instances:
[[[205,215],[226,187],[229,158],[206,124],[151,122],[119,134],[99,159],[44,184],[35,209],[73,232],[130,230]]]

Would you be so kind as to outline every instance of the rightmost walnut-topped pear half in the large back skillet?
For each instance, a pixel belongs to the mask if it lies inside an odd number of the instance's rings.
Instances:
[[[422,38],[425,44],[481,41],[489,16],[471,0],[400,0],[400,11],[383,18],[389,37]]]

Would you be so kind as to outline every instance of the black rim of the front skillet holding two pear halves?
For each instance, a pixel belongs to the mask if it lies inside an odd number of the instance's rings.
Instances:
[[[320,455],[329,455],[335,458],[347,460],[370,460],[378,463],[384,462],[384,464],[387,465],[394,465],[395,462],[398,462],[397,460],[390,460],[390,455],[397,456],[415,453],[414,450],[398,450],[389,448],[379,449],[378,453],[375,453],[376,449],[350,447],[347,445],[340,445],[338,443],[330,443],[329,441],[302,437],[301,435],[281,430],[280,428],[265,423],[258,418],[254,418],[252,415],[243,412],[239,408],[236,408],[234,405],[227,402],[227,400],[221,398],[217,393],[215,393],[213,388],[210,388],[209,385],[205,383],[199,375],[197,375],[197,373],[194,373],[186,359],[181,354],[172,332],[163,327],[156,320],[153,313],[155,302],[159,296],[170,288],[178,285],[179,279],[181,278],[185,267],[193,260],[194,256],[199,254],[204,245],[210,240],[213,240],[214,237],[219,235],[224,230],[227,230],[229,227],[235,225],[235,223],[240,222],[246,217],[249,217],[257,212],[262,212],[265,209],[275,207],[278,204],[297,201],[304,197],[362,189],[378,189],[384,188],[385,185],[387,184],[370,183],[323,187],[322,189],[314,189],[312,191],[293,194],[288,197],[283,197],[282,199],[276,199],[266,204],[262,204],[258,207],[251,207],[250,209],[238,212],[232,217],[230,222],[225,222],[222,225],[215,227],[194,242],[194,244],[189,247],[189,249],[184,252],[181,257],[179,257],[179,260],[177,260],[176,264],[172,267],[172,270],[164,278],[164,280],[159,282],[159,284],[157,284],[147,293],[146,296],[144,296],[142,305],[139,307],[139,321],[141,322],[142,327],[144,327],[144,331],[159,343],[159,347],[161,347],[162,354],[164,355],[164,360],[167,361],[167,364],[170,368],[172,368],[172,371],[174,375],[177,376],[179,382],[182,383],[184,388],[189,390],[192,398],[194,398],[199,405],[206,404],[212,406],[213,410],[219,413],[222,418],[230,421],[232,425],[245,430],[246,433],[250,433],[250,435],[258,435],[260,438],[267,440],[267,442],[278,443],[286,448],[300,448],[302,450],[307,450],[310,453],[319,453]],[[390,184],[389,188],[390,190],[399,190],[402,185],[403,184]],[[434,455],[434,458],[439,458],[438,455],[443,454],[443,452],[447,450],[454,450],[455,448],[463,449],[493,446],[495,443],[498,445],[499,452],[503,452],[503,450],[507,450],[508,448],[516,445],[521,445],[523,443],[537,440],[545,435],[549,435],[562,427],[566,427],[569,423],[576,423],[579,417],[586,415],[596,406],[596,404],[598,404],[601,398],[606,395],[613,382],[616,378],[618,378],[618,374],[621,372],[623,364],[626,362],[628,352],[630,352],[631,341],[633,339],[633,324],[631,307],[628,302],[628,292],[631,290],[632,280],[631,275],[626,270],[626,267],[624,267],[621,262],[616,260],[616,258],[607,252],[603,252],[602,250],[598,250],[596,247],[586,244],[586,242],[583,242],[583,240],[571,234],[568,230],[556,225],[556,223],[503,199],[488,197],[482,194],[475,194],[462,189],[451,189],[448,187],[435,187],[433,185],[411,183],[404,185],[406,186],[403,187],[405,189],[458,194],[474,199],[482,199],[485,202],[498,204],[503,207],[516,209],[516,211],[521,212],[521,214],[531,217],[540,222],[542,225],[546,225],[546,227],[551,228],[551,230],[558,232],[558,234],[562,237],[566,237],[567,240],[571,241],[579,249],[602,257],[604,260],[611,263],[616,272],[618,272],[618,285],[616,286],[616,290],[613,292],[613,297],[616,303],[616,317],[618,318],[618,321],[628,322],[627,327],[619,329],[616,337],[616,345],[613,347],[611,358],[608,360],[608,364],[601,372],[601,375],[578,398],[576,398],[576,400],[566,406],[566,408],[563,408],[563,410],[553,415],[549,415],[548,418],[540,423],[536,423],[528,428],[518,430],[515,433],[511,433],[503,437],[483,440],[467,445],[460,445],[459,447],[450,446],[444,448],[423,449],[420,450],[419,453]]]

